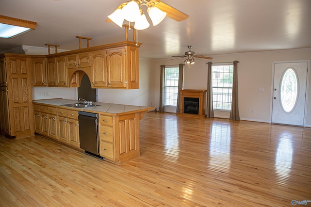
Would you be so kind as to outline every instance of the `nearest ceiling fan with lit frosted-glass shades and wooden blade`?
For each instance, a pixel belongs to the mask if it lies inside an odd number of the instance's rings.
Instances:
[[[165,16],[168,16],[176,21],[182,21],[189,17],[185,13],[160,0],[130,0],[121,3],[115,12],[108,16],[106,22],[113,21],[122,27],[123,20],[125,19],[129,22],[136,22],[138,27],[136,28],[137,30],[146,29],[149,27],[149,23],[147,22],[144,12],[141,9],[142,6],[147,7],[146,14],[149,14],[154,26],[160,23]]]

